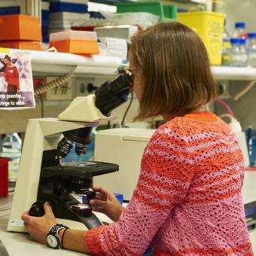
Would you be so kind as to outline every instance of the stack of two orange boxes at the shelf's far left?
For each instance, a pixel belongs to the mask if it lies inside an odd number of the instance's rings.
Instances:
[[[0,16],[0,47],[41,50],[41,27],[36,17],[23,14]]]

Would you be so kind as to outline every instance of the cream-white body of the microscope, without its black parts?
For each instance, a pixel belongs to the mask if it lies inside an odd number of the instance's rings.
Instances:
[[[8,231],[26,232],[21,215],[37,200],[43,152],[56,149],[62,132],[99,125],[108,120],[94,105],[94,95],[78,97],[57,118],[30,119],[26,128],[20,170],[15,187]],[[69,120],[69,121],[68,121]],[[71,120],[71,121],[70,121]],[[84,230],[78,221],[61,220],[62,224]]]

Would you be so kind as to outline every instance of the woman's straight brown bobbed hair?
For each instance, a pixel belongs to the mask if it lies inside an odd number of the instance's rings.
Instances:
[[[191,111],[218,96],[206,47],[187,26],[152,26],[133,36],[130,50],[144,81],[136,120]]]

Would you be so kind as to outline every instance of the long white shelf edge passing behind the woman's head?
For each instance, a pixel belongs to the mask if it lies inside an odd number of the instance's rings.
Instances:
[[[72,72],[78,75],[117,75],[117,68],[122,65],[121,59],[114,56],[80,56],[38,50],[24,50],[24,52],[29,53],[31,57],[34,74]],[[256,80],[256,69],[252,68],[212,66],[212,72],[215,79],[218,80]]]

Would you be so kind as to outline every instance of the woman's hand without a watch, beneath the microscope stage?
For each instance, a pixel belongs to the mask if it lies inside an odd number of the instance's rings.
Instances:
[[[119,203],[113,193],[109,193],[102,187],[94,187],[96,190],[96,199],[90,200],[90,206],[93,211],[102,212],[111,218],[112,221],[116,222],[119,220],[124,207]]]

